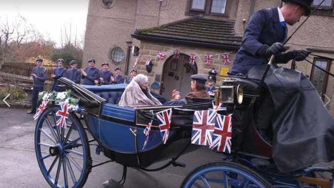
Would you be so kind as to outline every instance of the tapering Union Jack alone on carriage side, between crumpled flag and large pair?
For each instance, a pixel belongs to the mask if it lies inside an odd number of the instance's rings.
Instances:
[[[172,108],[157,112],[156,116],[158,118],[162,142],[165,144],[168,139],[168,135],[170,134]]]

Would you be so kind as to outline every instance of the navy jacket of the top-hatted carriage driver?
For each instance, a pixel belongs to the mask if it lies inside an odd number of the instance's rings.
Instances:
[[[277,7],[262,9],[254,13],[245,29],[241,47],[235,55],[229,74],[247,74],[255,65],[268,63],[265,57],[257,56],[257,51],[263,46],[271,46],[276,42],[283,43],[287,37],[287,27],[279,22]],[[284,53],[275,57],[276,63],[286,63]]]

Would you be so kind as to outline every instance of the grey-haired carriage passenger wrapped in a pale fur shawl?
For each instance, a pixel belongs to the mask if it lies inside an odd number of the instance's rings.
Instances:
[[[124,90],[118,105],[138,107],[161,105],[161,103],[151,95],[147,77],[144,74],[138,74]]]

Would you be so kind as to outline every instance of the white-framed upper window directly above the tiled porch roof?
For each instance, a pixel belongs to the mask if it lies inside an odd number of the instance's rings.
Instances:
[[[190,0],[189,13],[226,14],[228,0]]]

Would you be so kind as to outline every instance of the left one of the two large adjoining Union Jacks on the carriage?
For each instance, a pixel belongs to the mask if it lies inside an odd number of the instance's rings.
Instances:
[[[200,110],[194,112],[191,143],[198,145],[210,145],[212,143],[216,116],[216,110]]]

